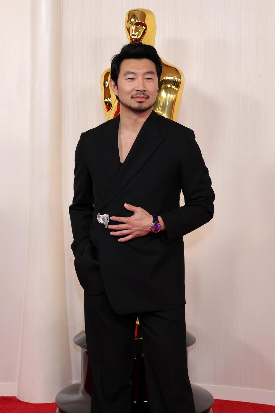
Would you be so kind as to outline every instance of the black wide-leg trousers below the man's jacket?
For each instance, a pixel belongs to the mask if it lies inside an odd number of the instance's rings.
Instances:
[[[84,290],[85,332],[93,390],[91,413],[130,413],[134,331],[142,330],[151,413],[195,413],[186,358],[185,305],[118,314],[106,291]]]

